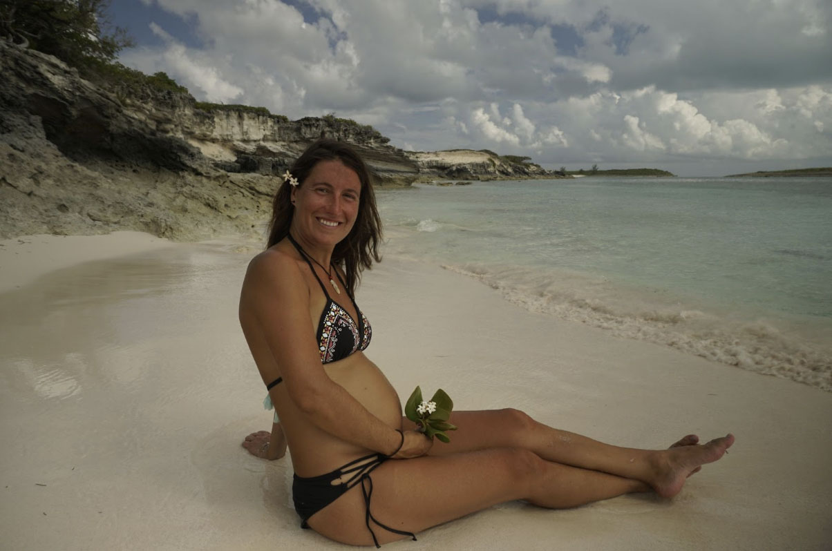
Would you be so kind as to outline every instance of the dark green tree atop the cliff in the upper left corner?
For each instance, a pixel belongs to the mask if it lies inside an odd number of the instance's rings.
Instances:
[[[0,37],[81,68],[132,46],[106,14],[111,0],[0,0]]]

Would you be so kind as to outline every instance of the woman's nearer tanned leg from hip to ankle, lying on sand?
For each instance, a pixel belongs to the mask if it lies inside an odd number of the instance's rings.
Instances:
[[[562,509],[649,491],[638,480],[552,463],[519,448],[388,460],[370,476],[373,516],[390,528],[414,533],[513,499]],[[371,545],[365,511],[356,486],[314,514],[309,524],[329,539]],[[380,544],[406,537],[372,521],[370,527]]]

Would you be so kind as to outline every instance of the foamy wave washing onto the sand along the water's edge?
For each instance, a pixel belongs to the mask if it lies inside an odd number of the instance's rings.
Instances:
[[[566,270],[484,264],[443,268],[478,279],[532,312],[832,391],[832,348],[822,338],[829,327],[817,331],[820,338],[810,339],[781,319],[682,304],[657,289]],[[827,326],[828,320],[819,323]]]

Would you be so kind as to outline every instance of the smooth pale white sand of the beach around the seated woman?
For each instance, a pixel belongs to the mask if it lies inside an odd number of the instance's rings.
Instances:
[[[38,239],[0,247],[2,549],[349,549],[298,528],[288,459],[240,447],[270,423],[235,316],[251,253],[103,259],[128,236]],[[403,398],[442,386],[458,409],[622,445],[737,437],[673,500],[503,504],[385,549],[832,548],[832,394],[531,314],[423,263],[386,259],[359,304]]]

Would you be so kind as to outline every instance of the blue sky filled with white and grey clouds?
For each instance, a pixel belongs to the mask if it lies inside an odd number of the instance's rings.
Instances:
[[[405,150],[677,175],[832,166],[829,0],[114,0],[119,61]]]

